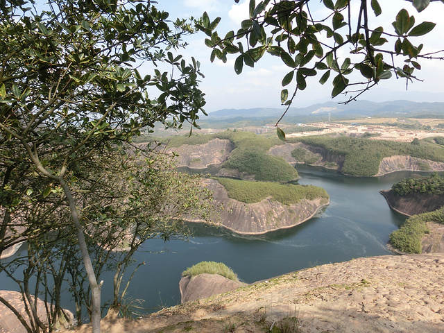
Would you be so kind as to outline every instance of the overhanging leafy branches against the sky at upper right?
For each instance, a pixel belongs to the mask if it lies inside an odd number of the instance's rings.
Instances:
[[[438,0],[407,1],[420,12]],[[325,7],[327,15],[323,15],[325,10],[311,10],[314,6]],[[357,17],[352,15],[355,9]],[[416,24],[413,15],[401,9],[393,21],[393,31],[384,31],[371,16],[382,13],[377,0],[323,0],[321,4],[309,0],[250,0],[249,13],[239,30],[229,31],[225,37],[215,30],[220,17],[211,21],[205,12],[196,26],[208,36],[205,44],[213,49],[211,61],[219,58],[226,62],[228,54],[238,55],[234,63],[237,74],[244,65],[254,67],[266,53],[279,57],[289,67],[282,87],[293,85],[281,92],[287,110],[297,92],[307,87],[310,76],[320,76],[321,85],[332,76],[332,97],[349,94],[345,101],[349,103],[379,80],[392,76],[405,78],[407,83],[417,80],[419,60],[443,59],[438,52],[421,53],[423,44],[414,40],[432,31],[434,23]],[[341,59],[340,51],[349,57]],[[284,138],[280,128],[278,136]]]

